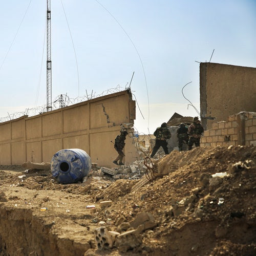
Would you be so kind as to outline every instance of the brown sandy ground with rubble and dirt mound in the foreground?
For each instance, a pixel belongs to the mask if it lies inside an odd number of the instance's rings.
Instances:
[[[255,166],[254,147],[173,151],[158,162],[166,175],[137,189],[98,169],[62,185],[50,170],[0,166],[0,255],[256,255]],[[136,245],[98,249],[95,228],[132,230],[141,212],[155,227]]]

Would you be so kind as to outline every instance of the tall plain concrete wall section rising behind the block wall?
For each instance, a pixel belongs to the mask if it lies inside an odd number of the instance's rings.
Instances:
[[[234,113],[256,112],[256,68],[200,63],[200,109],[205,130]]]

